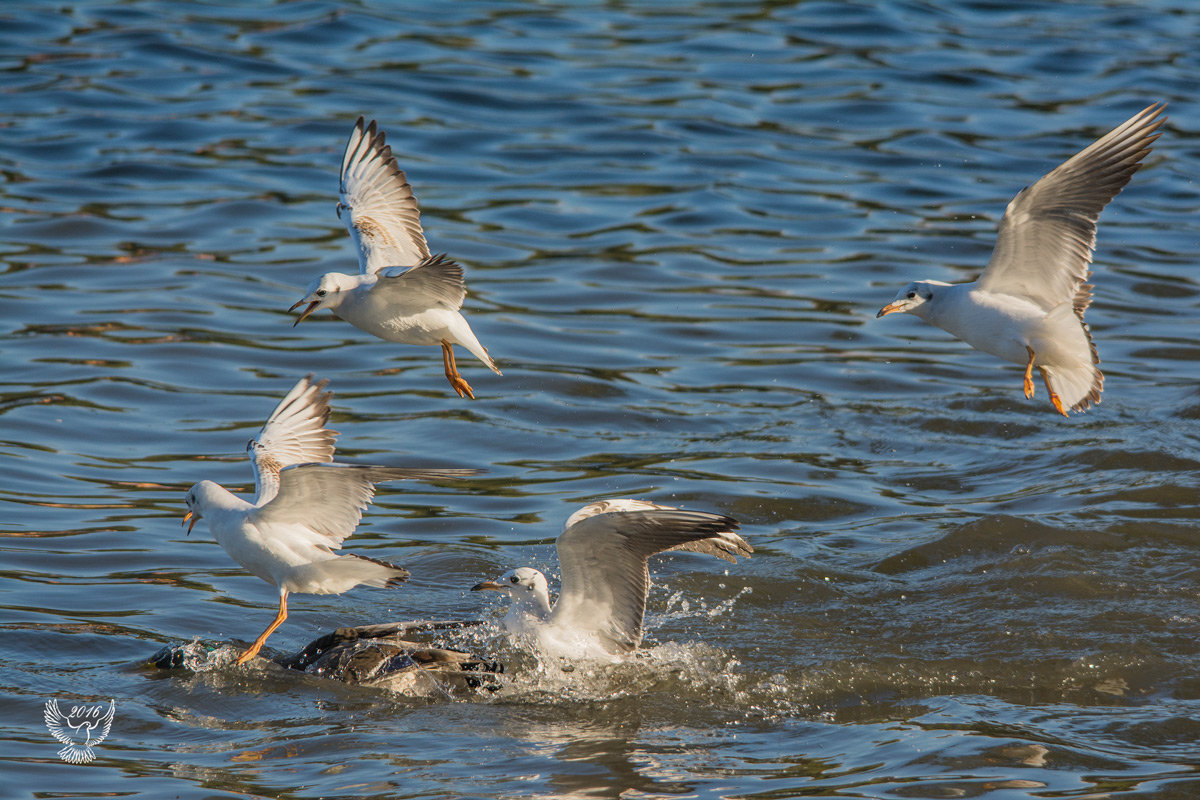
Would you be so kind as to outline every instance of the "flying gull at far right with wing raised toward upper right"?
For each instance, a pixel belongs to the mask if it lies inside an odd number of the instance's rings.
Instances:
[[[914,314],[971,347],[1033,369],[1063,416],[1100,402],[1104,375],[1084,312],[1092,302],[1096,221],[1124,188],[1166,121],[1157,103],[1097,139],[1004,210],[991,260],[971,283],[916,281],[876,317]]]

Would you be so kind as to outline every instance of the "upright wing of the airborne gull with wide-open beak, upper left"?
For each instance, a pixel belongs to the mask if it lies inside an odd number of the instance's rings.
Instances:
[[[428,258],[421,213],[408,179],[374,120],[360,116],[342,155],[337,216],[359,247],[364,275],[385,266],[412,266]]]

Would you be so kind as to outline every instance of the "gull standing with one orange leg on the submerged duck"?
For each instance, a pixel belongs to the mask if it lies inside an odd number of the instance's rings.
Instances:
[[[329,381],[306,375],[271,413],[246,445],[254,468],[256,497],[248,503],[212,481],[187,491],[187,533],[200,518],[234,561],[278,587],[280,610],[254,643],[238,656],[242,664],[258,655],[288,616],[288,595],[340,595],[365,583],[395,585],[408,570],[364,555],[338,555],[380,481],[446,480],[475,475],[474,469],[397,469],[334,464],[337,431],[329,421]]]

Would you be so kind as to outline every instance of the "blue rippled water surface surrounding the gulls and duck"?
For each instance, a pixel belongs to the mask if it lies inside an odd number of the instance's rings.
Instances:
[[[1200,17],[1080,2],[0,5],[2,796],[1162,796],[1200,793]],[[914,319],[1021,187],[1154,101],[1102,217],[1103,403]],[[504,371],[288,306],[354,270],[341,150],[388,132]],[[655,563],[641,658],[410,700],[164,645],[275,591],[200,479],[295,380],[341,457],[474,467],[380,491],[397,590],[295,596],[271,638],[473,618],[592,499],[737,517]],[[85,765],[49,699],[115,700]]]

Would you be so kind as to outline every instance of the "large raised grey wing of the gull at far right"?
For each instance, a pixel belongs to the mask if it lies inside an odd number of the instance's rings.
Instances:
[[[1046,311],[1074,301],[1082,314],[1091,302],[1084,282],[1096,221],[1159,137],[1164,108],[1147,107],[1013,198],[979,287],[1028,297]]]

